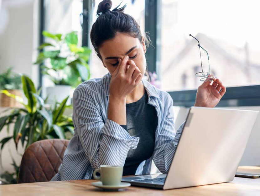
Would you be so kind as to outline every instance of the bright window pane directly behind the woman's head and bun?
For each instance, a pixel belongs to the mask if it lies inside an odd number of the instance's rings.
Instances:
[[[97,6],[101,2],[101,0],[95,0],[95,5],[94,5],[94,11],[93,11],[93,16],[92,16],[92,24],[96,21],[97,15]],[[140,28],[142,31],[142,34],[144,34],[144,3],[145,1],[136,1],[136,0],[113,0],[113,5],[112,9],[114,9],[117,5],[119,5],[121,2],[121,6],[127,4],[127,7],[125,9],[124,13],[128,13],[131,16],[134,17],[134,19],[137,20],[140,24]],[[120,7],[121,7],[120,6]],[[91,65],[91,78],[98,78],[98,77],[103,77],[108,71],[107,68],[105,68],[101,62],[101,60],[98,58],[96,55],[96,52],[92,46],[92,44],[89,44],[91,46],[91,62],[89,63]]]

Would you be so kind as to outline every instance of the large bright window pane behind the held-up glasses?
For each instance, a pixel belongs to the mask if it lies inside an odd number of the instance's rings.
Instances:
[[[201,82],[200,52],[192,34],[209,53],[211,73],[227,87],[260,84],[260,2],[162,0],[161,87],[196,89]],[[208,59],[201,50],[202,66]]]

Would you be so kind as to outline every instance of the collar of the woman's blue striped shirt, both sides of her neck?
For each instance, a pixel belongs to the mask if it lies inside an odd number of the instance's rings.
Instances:
[[[109,86],[110,86],[111,74],[108,72],[102,78],[102,85],[104,87],[106,96],[109,96]],[[158,89],[156,89],[152,84],[150,84],[145,78],[142,79],[143,86],[148,94],[148,97],[156,97],[159,98]]]

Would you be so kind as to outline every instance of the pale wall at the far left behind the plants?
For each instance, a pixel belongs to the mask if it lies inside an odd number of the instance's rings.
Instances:
[[[33,65],[33,61],[38,54],[38,6],[38,0],[3,1],[1,12],[4,7],[8,23],[0,31],[0,72],[5,71],[8,67],[13,67],[13,71],[31,77],[36,87],[38,86],[39,78],[38,66]],[[0,19],[0,22],[3,21]],[[4,109],[6,108],[0,108],[0,116],[4,115]],[[5,113],[5,115],[7,114]],[[11,130],[12,126],[10,126]],[[7,130],[3,128],[0,132],[0,140],[7,136]],[[13,172],[10,154],[16,163],[19,164],[21,161],[19,153],[23,153],[23,148],[20,145],[17,153],[14,142],[10,141],[7,143],[2,151],[3,167],[0,167],[0,174],[6,170]]]

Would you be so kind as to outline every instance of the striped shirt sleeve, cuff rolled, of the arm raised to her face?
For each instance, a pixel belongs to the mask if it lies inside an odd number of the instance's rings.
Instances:
[[[86,157],[93,169],[100,165],[123,166],[127,153],[135,149],[139,137],[130,136],[116,122],[103,118],[97,101],[92,95],[95,92],[89,87],[78,86],[73,93],[73,122]]]

